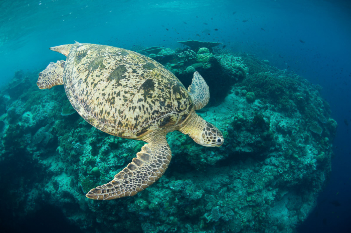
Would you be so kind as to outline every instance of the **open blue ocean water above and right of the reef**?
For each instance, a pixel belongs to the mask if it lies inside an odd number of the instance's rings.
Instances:
[[[335,156],[318,204],[298,232],[351,231],[348,1],[2,1],[0,12],[0,85],[16,70],[39,73],[65,59],[48,50],[56,45],[175,49],[186,40],[220,42],[319,84],[338,123]]]

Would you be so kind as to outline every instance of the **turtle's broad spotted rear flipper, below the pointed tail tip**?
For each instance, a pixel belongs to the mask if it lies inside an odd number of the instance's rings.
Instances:
[[[50,89],[56,85],[63,85],[63,67],[66,61],[50,62],[45,70],[39,73],[37,85],[40,89]]]

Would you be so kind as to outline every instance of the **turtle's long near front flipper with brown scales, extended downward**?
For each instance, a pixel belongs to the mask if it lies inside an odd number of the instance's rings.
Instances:
[[[133,196],[156,182],[165,172],[171,159],[171,151],[165,137],[152,134],[144,141],[141,151],[126,168],[115,175],[114,179],[91,189],[86,197],[97,200],[110,200]]]

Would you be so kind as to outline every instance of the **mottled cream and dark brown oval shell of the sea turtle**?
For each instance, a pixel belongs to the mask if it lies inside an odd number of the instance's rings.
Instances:
[[[72,106],[91,125],[123,138],[141,138],[181,124],[193,108],[184,85],[153,59],[105,45],[76,43],[64,68]]]

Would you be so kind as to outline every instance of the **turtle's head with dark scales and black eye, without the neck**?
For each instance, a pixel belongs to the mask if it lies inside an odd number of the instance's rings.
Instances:
[[[202,146],[205,147],[220,147],[222,146],[224,142],[224,138],[222,135],[222,132],[212,125],[211,123],[208,123],[204,120],[205,126],[202,129],[202,132],[200,133],[199,136],[199,143]],[[195,139],[194,139],[195,141]]]

